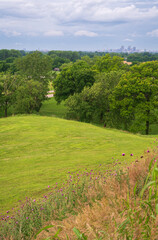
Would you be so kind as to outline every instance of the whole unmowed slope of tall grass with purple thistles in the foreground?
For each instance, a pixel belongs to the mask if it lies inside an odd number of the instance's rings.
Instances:
[[[30,240],[50,225],[37,239],[155,240],[157,223],[156,149],[126,168],[115,159],[108,170],[99,166],[97,171],[69,172],[67,181],[55,184],[42,199],[26,199],[16,213],[1,216],[0,237]]]

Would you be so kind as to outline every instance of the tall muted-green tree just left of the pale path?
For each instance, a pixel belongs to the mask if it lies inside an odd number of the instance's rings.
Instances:
[[[36,51],[18,59],[16,67],[22,78],[22,84],[16,90],[16,112],[39,111],[48,91],[51,58]]]

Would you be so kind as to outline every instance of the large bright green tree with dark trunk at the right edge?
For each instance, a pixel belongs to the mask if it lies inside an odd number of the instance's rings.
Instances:
[[[149,134],[150,123],[157,117],[157,72],[158,61],[135,65],[123,76],[112,93],[111,110],[126,129],[138,131],[141,128]]]

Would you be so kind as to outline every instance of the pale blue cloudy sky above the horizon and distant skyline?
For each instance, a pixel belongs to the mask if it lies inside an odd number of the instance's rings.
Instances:
[[[0,0],[0,49],[158,50],[158,0]]]

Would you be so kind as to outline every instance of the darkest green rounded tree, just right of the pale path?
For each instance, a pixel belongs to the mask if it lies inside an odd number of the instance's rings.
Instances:
[[[70,95],[81,92],[85,86],[92,86],[95,73],[83,60],[68,64],[53,82],[56,101],[60,103]]]

